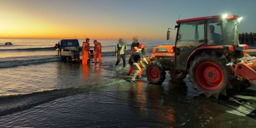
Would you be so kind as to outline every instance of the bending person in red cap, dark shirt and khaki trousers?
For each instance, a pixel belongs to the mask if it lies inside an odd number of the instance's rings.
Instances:
[[[128,62],[132,66],[132,69],[135,71],[130,82],[133,82],[133,83],[136,82],[135,78],[140,72],[140,66],[139,66],[138,62],[141,60],[146,65],[148,64],[147,59],[144,58],[144,56],[143,56],[145,54],[146,54],[146,47],[144,44],[140,44],[138,50],[136,52],[134,52],[134,54],[132,54],[132,56],[130,57]]]

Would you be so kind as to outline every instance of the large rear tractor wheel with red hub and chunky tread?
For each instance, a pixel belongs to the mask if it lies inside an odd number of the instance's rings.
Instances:
[[[225,62],[225,56],[217,57],[215,52],[203,52],[195,56],[190,63],[189,80],[198,94],[215,98],[218,98],[219,94],[226,95],[228,72]]]

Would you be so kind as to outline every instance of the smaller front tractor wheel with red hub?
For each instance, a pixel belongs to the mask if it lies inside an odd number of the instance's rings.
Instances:
[[[158,61],[152,61],[147,65],[146,74],[150,83],[160,85],[165,80],[166,72],[163,69],[161,63]]]

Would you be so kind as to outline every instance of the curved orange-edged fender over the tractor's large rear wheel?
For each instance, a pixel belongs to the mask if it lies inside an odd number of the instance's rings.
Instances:
[[[189,66],[189,61],[191,60],[191,58],[193,58],[195,56],[195,54],[200,54],[201,52],[204,52],[205,50],[209,50],[209,49],[223,49],[222,45],[213,45],[213,46],[200,46],[198,48],[195,48],[188,56],[187,61],[186,61],[186,67]]]

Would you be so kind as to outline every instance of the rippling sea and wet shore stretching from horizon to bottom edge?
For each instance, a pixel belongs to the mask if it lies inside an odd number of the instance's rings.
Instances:
[[[128,55],[126,67],[122,61],[113,67],[117,40],[98,40],[102,65],[89,66],[59,60],[58,41],[0,39],[0,127],[256,126],[255,93],[209,99],[199,96],[187,78],[172,80],[167,73],[162,85],[152,85],[145,71],[143,79],[130,83]],[[139,42],[147,46],[147,56],[154,46],[174,44]],[[132,41],[127,43],[130,49]]]

